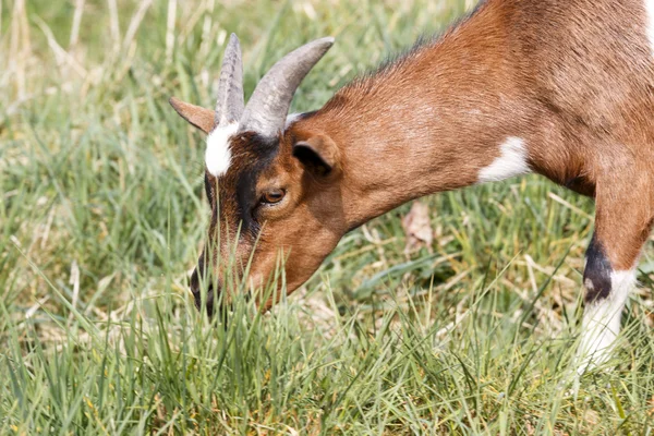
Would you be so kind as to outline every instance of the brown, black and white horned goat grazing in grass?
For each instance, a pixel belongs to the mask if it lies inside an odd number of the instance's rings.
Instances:
[[[287,119],[300,82],[332,43],[286,56],[245,106],[232,35],[216,109],[170,100],[208,134],[209,235],[218,231],[221,242],[199,258],[196,299],[205,269],[216,283],[207,304],[225,288],[225,272],[205,263],[226,263],[237,237],[234,256],[241,265],[251,257],[252,286],[269,280],[283,252],[290,293],[374,217],[535,172],[595,199],[580,367],[593,354],[605,361],[654,218],[654,1],[487,0],[323,108]]]

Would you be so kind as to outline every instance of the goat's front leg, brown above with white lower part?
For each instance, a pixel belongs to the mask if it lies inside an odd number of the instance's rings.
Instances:
[[[614,182],[609,189],[602,187],[597,186],[595,233],[583,274],[585,308],[577,361],[580,374],[610,356],[625,303],[635,287],[638,258],[652,227],[647,184],[637,182],[619,189]]]

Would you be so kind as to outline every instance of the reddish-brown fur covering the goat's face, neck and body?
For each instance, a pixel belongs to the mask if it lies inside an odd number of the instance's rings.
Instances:
[[[438,40],[343,87],[283,132],[257,180],[257,195],[274,186],[288,198],[258,217],[251,278],[265,282],[281,250],[293,291],[348,230],[476,183],[508,136],[524,140],[535,172],[596,198],[596,238],[611,268],[633,268],[654,219],[645,28],[637,0],[489,0]],[[318,144],[330,173],[293,157],[303,141]],[[234,156],[247,147],[234,142]],[[226,192],[230,177],[218,181]]]

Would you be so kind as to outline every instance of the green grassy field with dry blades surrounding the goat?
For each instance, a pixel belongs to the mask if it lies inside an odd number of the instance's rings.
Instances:
[[[424,198],[347,235],[270,313],[226,327],[186,278],[226,38],[250,94],[332,35],[295,110],[473,2],[0,0],[0,434],[631,434],[654,428],[654,251],[619,352],[577,391],[593,204],[538,177]]]

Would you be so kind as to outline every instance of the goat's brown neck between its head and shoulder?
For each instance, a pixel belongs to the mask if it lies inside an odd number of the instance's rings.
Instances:
[[[412,198],[488,180],[482,171],[502,145],[523,146],[530,114],[494,20],[480,11],[434,45],[346,86],[311,118],[340,148],[352,227]]]

